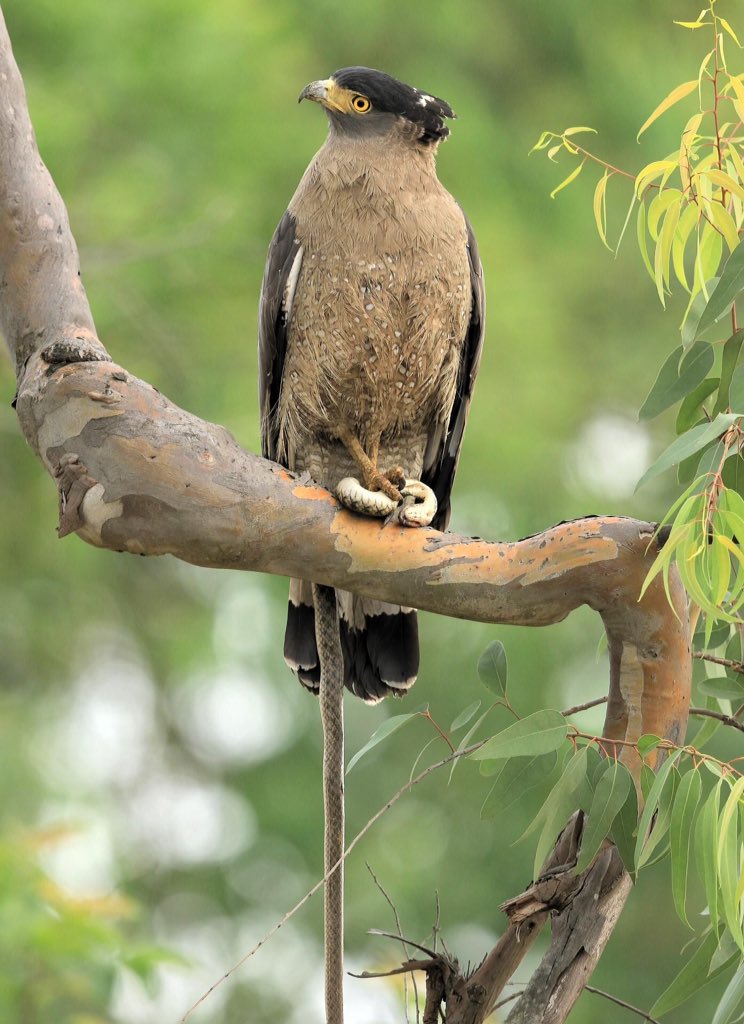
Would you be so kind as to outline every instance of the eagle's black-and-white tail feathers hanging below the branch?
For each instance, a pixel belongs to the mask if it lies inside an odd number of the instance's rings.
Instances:
[[[344,652],[344,683],[368,703],[401,696],[419,671],[419,624],[413,608],[336,592]],[[315,644],[312,585],[290,582],[285,660],[303,686],[317,693],[320,667]]]

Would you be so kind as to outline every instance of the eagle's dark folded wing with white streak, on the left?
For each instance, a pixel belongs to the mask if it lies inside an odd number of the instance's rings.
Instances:
[[[269,246],[259,302],[258,393],[261,408],[261,454],[264,459],[276,458],[278,437],[273,414],[279,400],[287,352],[287,328],[301,261],[302,249],[295,232],[295,218],[288,210]]]

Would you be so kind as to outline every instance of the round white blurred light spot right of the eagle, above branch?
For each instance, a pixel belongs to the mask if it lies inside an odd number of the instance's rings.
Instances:
[[[651,439],[642,424],[607,413],[586,422],[567,459],[569,478],[608,498],[630,498],[647,469]]]

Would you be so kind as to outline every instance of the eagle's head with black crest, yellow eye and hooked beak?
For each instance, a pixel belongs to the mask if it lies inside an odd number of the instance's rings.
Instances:
[[[355,137],[375,137],[410,126],[417,144],[432,145],[449,134],[445,118],[456,117],[443,99],[399,82],[371,68],[342,68],[331,78],[311,82],[300,101],[312,99],[325,108],[332,130]]]

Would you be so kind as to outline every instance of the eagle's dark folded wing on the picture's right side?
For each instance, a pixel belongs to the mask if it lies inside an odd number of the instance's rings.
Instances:
[[[463,216],[465,217],[465,214]],[[440,427],[430,435],[424,456],[424,472],[422,473],[423,482],[427,483],[437,496],[437,514],[432,521],[434,529],[446,529],[449,522],[449,500],[452,483],[459,460],[463,434],[468,421],[470,400],[473,396],[485,334],[486,299],[483,286],[483,267],[478,254],[478,244],[467,217],[465,217],[465,223],[468,228],[468,259],[473,295],[470,323],[463,342],[457,391],[446,432]]]

